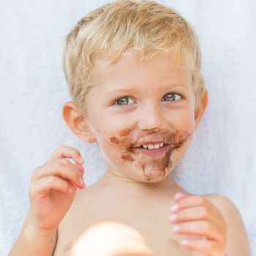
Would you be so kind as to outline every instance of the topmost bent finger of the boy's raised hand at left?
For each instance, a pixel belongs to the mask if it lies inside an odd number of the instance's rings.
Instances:
[[[77,163],[84,163],[80,152],[77,149],[69,146],[59,146],[59,148],[57,148],[56,151],[50,155],[46,162],[52,162],[53,160],[60,158],[72,158]]]

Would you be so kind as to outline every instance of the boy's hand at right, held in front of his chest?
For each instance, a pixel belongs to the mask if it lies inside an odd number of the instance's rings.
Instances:
[[[173,233],[188,236],[181,245],[192,252],[225,256],[227,225],[219,208],[199,195],[186,196],[179,192],[174,200],[170,215]]]

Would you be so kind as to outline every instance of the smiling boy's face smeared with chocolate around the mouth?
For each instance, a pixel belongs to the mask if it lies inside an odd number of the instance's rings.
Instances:
[[[184,156],[195,130],[192,75],[166,53],[107,64],[96,67],[100,81],[86,108],[108,170],[135,181],[161,181]]]

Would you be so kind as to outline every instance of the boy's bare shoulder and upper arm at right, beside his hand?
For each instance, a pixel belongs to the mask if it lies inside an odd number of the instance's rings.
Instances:
[[[205,197],[219,208],[227,223],[227,255],[250,256],[246,228],[235,203],[224,195],[208,194]]]

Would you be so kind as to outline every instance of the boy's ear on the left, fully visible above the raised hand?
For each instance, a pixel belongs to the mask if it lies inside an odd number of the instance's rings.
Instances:
[[[71,129],[78,138],[88,143],[94,143],[96,141],[89,127],[89,119],[86,113],[81,113],[74,102],[66,102],[64,104],[62,116],[69,129]]]

